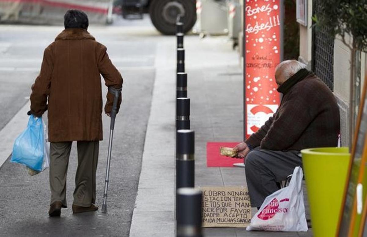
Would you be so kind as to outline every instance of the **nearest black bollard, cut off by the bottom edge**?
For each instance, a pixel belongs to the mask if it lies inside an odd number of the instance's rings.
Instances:
[[[196,188],[177,190],[177,237],[201,237],[201,201],[203,194]]]

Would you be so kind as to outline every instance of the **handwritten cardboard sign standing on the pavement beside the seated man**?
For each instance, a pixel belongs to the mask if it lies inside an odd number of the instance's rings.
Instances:
[[[203,227],[246,227],[251,221],[247,188],[204,187]]]

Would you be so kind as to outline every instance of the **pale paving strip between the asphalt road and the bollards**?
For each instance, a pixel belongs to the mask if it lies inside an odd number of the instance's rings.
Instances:
[[[175,235],[175,41],[156,48],[152,107],[145,136],[130,236]]]

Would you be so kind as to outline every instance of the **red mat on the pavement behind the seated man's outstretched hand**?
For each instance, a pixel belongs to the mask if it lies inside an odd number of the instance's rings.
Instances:
[[[243,159],[222,156],[220,147],[235,147],[239,142],[207,142],[208,167],[233,167],[234,163],[243,163]]]

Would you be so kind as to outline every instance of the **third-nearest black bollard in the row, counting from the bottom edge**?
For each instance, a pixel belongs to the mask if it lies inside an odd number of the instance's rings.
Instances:
[[[176,130],[190,129],[190,99],[176,99]]]

